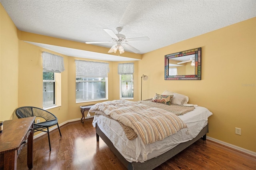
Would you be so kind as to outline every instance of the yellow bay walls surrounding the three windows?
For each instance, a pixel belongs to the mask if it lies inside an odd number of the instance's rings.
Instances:
[[[21,33],[22,34],[22,33]],[[19,41],[19,75],[18,75],[18,107],[21,106],[36,106],[42,108],[42,51],[49,51]],[[64,57],[65,71],[61,73],[61,106],[50,109],[58,117],[59,123],[77,119],[82,117],[80,112],[81,105],[95,104],[94,102],[76,103],[76,64],[75,59],[96,61],[93,59],[83,59],[78,57],[68,57],[59,53],[55,53]],[[109,63],[110,72],[108,73],[108,99],[119,99],[119,75],[118,63],[111,61],[100,61]],[[135,63],[135,70],[138,70],[138,61]],[[137,71],[138,72],[138,71]],[[137,74],[134,73],[134,75]],[[117,78],[114,78],[117,77]],[[138,83],[135,81],[135,85]],[[138,90],[135,90],[136,94]],[[135,95],[137,96],[137,95]],[[135,97],[138,100],[138,96]],[[135,100],[134,99],[134,100]]]

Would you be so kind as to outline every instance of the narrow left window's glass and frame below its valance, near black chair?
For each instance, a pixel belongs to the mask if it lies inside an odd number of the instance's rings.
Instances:
[[[43,71],[43,107],[55,105],[55,73]]]

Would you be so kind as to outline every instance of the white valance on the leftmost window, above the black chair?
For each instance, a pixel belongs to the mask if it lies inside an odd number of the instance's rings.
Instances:
[[[61,73],[65,70],[63,57],[42,51],[43,71]]]

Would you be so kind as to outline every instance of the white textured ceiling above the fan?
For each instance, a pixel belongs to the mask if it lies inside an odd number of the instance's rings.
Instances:
[[[0,0],[0,2],[16,27],[25,32],[83,43],[111,41],[104,28],[116,33],[115,28],[121,27],[123,30],[120,34],[124,34],[126,38],[148,36],[150,38],[148,42],[129,43],[139,49],[140,54],[256,16],[256,0]],[[113,44],[97,45],[110,48]],[[54,46],[51,50],[54,51]],[[62,53],[61,49],[59,50],[58,52]],[[73,55],[79,55],[79,52],[77,54],[76,52],[72,51]]]

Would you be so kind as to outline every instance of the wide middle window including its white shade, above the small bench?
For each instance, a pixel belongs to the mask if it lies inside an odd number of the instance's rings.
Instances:
[[[108,99],[108,63],[76,60],[76,103]]]

